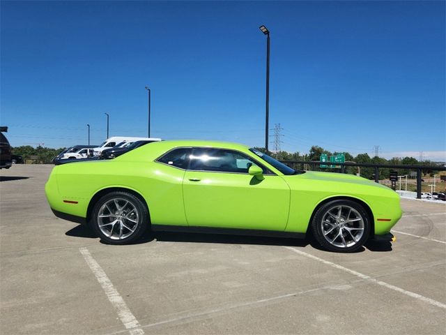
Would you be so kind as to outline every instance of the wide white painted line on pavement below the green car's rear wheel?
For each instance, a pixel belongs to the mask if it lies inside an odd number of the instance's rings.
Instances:
[[[139,325],[138,320],[134,317],[127,304],[125,304],[125,301],[121,295],[119,295],[118,290],[114,288],[112,281],[110,281],[107,274],[105,274],[105,271],[100,267],[98,262],[95,261],[90,251],[87,248],[79,248],[79,251],[82,253],[82,256],[84,256],[86,264],[89,265],[96,279],[98,279],[107,298],[116,309],[119,320],[123,322],[125,329],[129,330],[130,335],[143,335],[144,330],[140,328],[141,325]]]

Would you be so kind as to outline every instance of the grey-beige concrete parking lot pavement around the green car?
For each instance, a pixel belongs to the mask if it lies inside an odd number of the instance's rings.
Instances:
[[[1,334],[445,334],[446,206],[403,200],[394,244],[147,234],[54,217],[51,165],[0,172]]]

